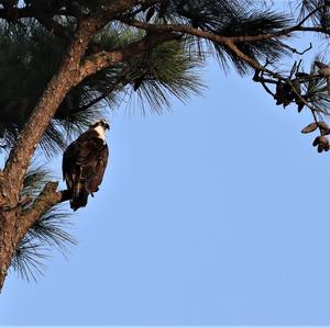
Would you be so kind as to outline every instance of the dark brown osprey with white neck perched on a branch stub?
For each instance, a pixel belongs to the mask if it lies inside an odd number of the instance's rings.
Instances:
[[[109,124],[99,120],[64,151],[62,171],[70,193],[70,207],[77,211],[87,204],[88,195],[99,190],[107,167],[106,143]]]

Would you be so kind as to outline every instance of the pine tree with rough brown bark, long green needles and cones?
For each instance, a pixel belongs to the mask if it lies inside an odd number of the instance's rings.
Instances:
[[[59,208],[70,195],[33,160],[61,156],[67,140],[122,99],[162,113],[172,97],[200,93],[198,69],[211,56],[260,83],[275,104],[310,111],[302,133],[318,132],[314,146],[330,149],[330,67],[318,54],[306,70],[312,45],[298,50],[292,43],[307,33],[329,37],[330,1],[292,0],[296,16],[267,2],[0,1],[0,148],[8,156],[0,171],[0,290],[10,265],[34,278],[43,248],[75,242]],[[301,60],[292,63],[292,54]],[[284,63],[288,69],[279,69]]]

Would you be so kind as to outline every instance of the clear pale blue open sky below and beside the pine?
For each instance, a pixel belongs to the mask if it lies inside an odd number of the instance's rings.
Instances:
[[[105,182],[0,325],[330,325],[329,154],[308,113],[211,64],[204,97],[111,115]],[[59,174],[59,163],[54,171]]]

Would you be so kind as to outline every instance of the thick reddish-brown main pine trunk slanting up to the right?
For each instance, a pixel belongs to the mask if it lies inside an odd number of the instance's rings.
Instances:
[[[16,240],[18,235],[23,237],[22,234],[18,233],[23,224],[20,222],[20,214],[22,213],[20,193],[24,174],[34,150],[57,108],[67,92],[78,83],[80,58],[95,32],[95,26],[89,21],[81,23],[78,27],[58,72],[47,84],[33,114],[11,150],[3,172],[1,172],[0,291],[15,247],[21,241]]]

